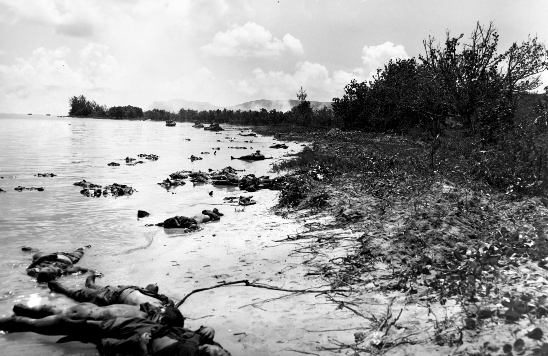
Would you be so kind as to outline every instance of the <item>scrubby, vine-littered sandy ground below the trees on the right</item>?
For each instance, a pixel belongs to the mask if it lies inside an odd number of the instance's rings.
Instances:
[[[314,141],[275,167],[293,169],[278,214],[304,222],[284,241],[329,282],[323,296],[359,320],[333,321],[352,340],[307,353],[548,354],[547,199],[455,179],[458,165],[444,174],[436,142],[276,137]]]

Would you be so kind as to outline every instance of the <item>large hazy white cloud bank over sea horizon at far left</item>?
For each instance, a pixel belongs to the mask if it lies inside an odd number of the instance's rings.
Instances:
[[[67,60],[71,50],[67,47],[39,47],[28,58],[0,65],[1,111],[25,112],[30,107],[43,107],[62,113],[72,95],[116,91],[125,74],[108,52],[105,45],[89,43],[78,52],[77,65],[71,66]]]

